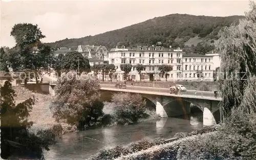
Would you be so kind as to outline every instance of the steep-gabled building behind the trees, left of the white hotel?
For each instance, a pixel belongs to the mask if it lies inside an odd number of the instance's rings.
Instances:
[[[89,59],[90,65],[108,63],[109,52],[104,46],[79,45],[76,49],[84,57]]]

